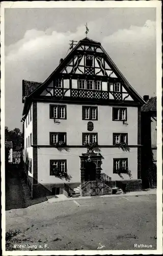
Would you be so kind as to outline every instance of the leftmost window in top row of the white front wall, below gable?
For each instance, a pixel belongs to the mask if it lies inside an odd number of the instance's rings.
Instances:
[[[66,105],[50,105],[50,119],[66,119]]]

